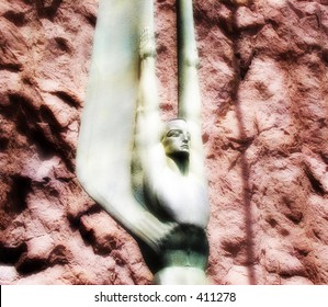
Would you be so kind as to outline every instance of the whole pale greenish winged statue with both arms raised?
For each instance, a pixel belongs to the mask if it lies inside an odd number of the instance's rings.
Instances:
[[[104,22],[109,18],[104,12],[112,9],[109,2],[100,3],[102,15],[97,31],[100,27],[110,31]],[[97,55],[106,62],[109,59],[104,57],[111,54],[101,52],[100,39],[104,34],[98,37],[95,33],[91,81],[78,146],[78,178],[86,191],[138,241],[144,259],[155,274],[155,284],[207,284],[205,228],[210,206],[192,0],[177,0],[179,114],[178,118],[166,124],[159,116],[152,1],[138,0],[131,4],[131,1],[123,0],[121,3],[122,14],[124,9],[131,13],[131,24],[121,30],[121,34],[127,35],[125,39],[132,48],[126,50],[126,44],[122,43],[122,49],[127,53],[123,56],[120,53],[121,65],[125,67],[117,65],[116,68],[114,61],[108,65],[112,72],[117,69],[122,75],[105,78],[99,71],[103,64]],[[128,8],[128,4],[135,7]],[[139,13],[137,18],[136,13]],[[134,38],[136,31],[138,39]],[[124,41],[116,36],[111,38]],[[118,50],[118,47],[114,48]],[[103,73],[108,72],[103,69]],[[101,79],[113,82],[110,92],[104,89],[110,84],[103,87]],[[122,84],[117,80],[126,82],[127,92],[120,88]],[[114,106],[108,101],[125,104]],[[120,107],[125,113],[116,114],[117,121],[112,113]],[[122,118],[127,127],[120,129]],[[125,139],[122,140],[122,136]]]

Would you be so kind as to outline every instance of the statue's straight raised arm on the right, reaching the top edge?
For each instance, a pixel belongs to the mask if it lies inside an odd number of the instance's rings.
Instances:
[[[184,118],[191,134],[190,168],[200,180],[206,181],[202,143],[200,59],[196,47],[193,5],[191,0],[177,1],[178,21],[178,103],[179,117]]]

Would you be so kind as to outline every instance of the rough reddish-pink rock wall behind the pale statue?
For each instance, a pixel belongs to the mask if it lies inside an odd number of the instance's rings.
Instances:
[[[174,1],[157,2],[163,117]],[[0,2],[0,283],[149,284],[79,186],[98,1]],[[215,284],[328,283],[328,1],[194,1]]]

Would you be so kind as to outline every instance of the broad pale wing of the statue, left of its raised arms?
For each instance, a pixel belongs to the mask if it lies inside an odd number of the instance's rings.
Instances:
[[[151,245],[168,229],[132,193],[131,161],[138,86],[138,41],[152,25],[152,0],[100,0],[77,175],[84,190]]]

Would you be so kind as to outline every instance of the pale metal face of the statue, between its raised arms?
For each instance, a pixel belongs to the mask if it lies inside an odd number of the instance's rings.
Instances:
[[[190,133],[183,120],[168,122],[161,143],[167,156],[189,156]]]

